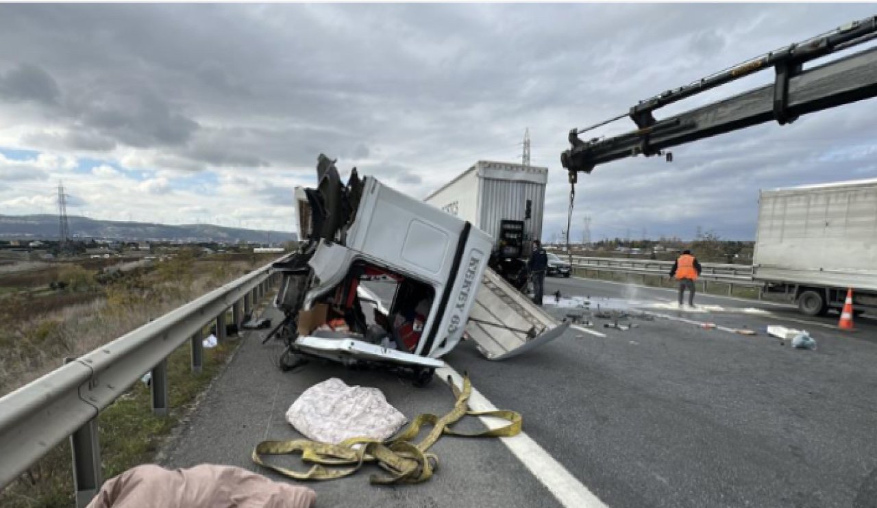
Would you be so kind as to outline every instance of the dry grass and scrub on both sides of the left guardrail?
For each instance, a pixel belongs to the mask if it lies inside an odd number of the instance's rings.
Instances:
[[[196,258],[183,250],[151,269],[111,278],[77,265],[0,278],[0,396],[53,370],[66,356],[81,356],[203,293],[265,265],[268,256]],[[103,280],[103,284],[98,280]],[[51,289],[48,285],[63,286]],[[63,283],[63,284],[59,284]],[[22,284],[28,286],[21,286]],[[11,288],[11,290],[10,290]],[[99,416],[104,477],[150,462],[160,441],[196,395],[210,383],[235,342],[204,351],[203,372],[189,372],[189,349],[168,357],[171,413],[153,416],[149,389],[137,384]],[[2,506],[70,506],[73,483],[67,441],[0,492]]]

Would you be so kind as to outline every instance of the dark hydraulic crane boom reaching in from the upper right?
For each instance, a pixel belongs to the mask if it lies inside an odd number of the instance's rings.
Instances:
[[[766,53],[684,87],[668,90],[639,102],[624,115],[586,129],[570,131],[569,142],[572,147],[560,155],[560,161],[569,171],[570,183],[575,183],[577,173],[590,173],[595,166],[612,160],[640,154],[662,155],[667,148],[697,139],[772,120],[784,125],[794,122],[801,115],[877,96],[877,47],[802,70],[802,65],[810,60],[871,39],[877,39],[877,16]],[[667,104],[770,67],[776,71],[772,85],[754,88],[664,120],[656,120],[652,116],[655,109]],[[582,132],[624,116],[629,116],[637,124],[636,131],[589,141],[579,138]],[[669,154],[667,159],[672,160]]]

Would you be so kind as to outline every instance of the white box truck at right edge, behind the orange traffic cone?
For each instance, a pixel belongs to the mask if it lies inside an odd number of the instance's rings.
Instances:
[[[768,291],[809,315],[877,307],[877,179],[762,191],[752,259]]]

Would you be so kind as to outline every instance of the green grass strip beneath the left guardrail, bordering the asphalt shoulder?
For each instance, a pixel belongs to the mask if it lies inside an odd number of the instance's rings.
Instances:
[[[150,388],[136,383],[130,391],[107,407],[98,417],[103,477],[111,478],[135,465],[152,462],[161,443],[179,423],[198,393],[210,384],[239,340],[214,349],[204,349],[203,370],[193,374],[189,343],[168,356],[167,417],[154,416]],[[0,492],[0,506],[37,508],[73,506],[73,476],[70,472],[69,440],[50,451],[18,481]]]

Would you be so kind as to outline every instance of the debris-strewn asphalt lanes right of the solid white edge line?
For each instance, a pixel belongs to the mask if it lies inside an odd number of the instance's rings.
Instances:
[[[547,287],[657,305],[675,299],[588,279],[548,279]],[[446,359],[497,406],[523,413],[526,432],[610,506],[877,503],[873,321],[841,335],[831,319],[800,320],[788,307],[698,301],[721,310],[658,312],[759,335],[660,319],[624,332],[595,320],[605,337],[572,330],[503,363],[464,344]],[[742,312],[750,307],[773,314]],[[808,328],[818,347],[791,349],[760,331],[767,324]]]

